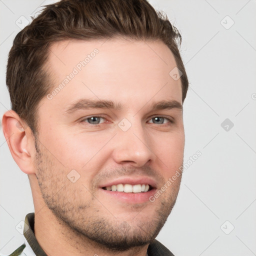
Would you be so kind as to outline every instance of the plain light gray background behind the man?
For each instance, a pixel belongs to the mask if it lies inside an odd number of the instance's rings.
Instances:
[[[0,0],[1,115],[10,108],[5,67],[21,26],[15,22],[30,20],[38,6],[52,2]],[[190,82],[184,162],[197,150],[202,153],[184,171],[176,205],[157,238],[176,256],[256,255],[256,1],[149,2],[181,31]],[[228,131],[221,126],[226,118],[234,124]],[[1,131],[0,253],[23,242],[15,226],[32,211],[28,178],[13,161]]]

